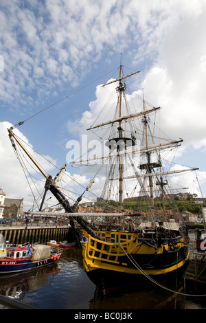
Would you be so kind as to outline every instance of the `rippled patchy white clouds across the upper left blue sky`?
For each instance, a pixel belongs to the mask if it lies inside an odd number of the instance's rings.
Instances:
[[[148,30],[146,15],[150,17],[152,9],[141,5],[141,1],[115,0],[88,0],[78,6],[75,1],[46,1],[45,7],[36,1],[21,8],[18,1],[13,1],[11,6],[1,1],[1,7],[1,52],[5,60],[5,74],[1,76],[9,80],[9,83],[3,82],[1,93],[3,99],[5,93],[12,93],[8,97],[10,102],[15,96],[21,99],[25,89],[32,93],[32,85],[38,89],[40,76],[45,76],[45,89],[51,88],[49,78],[54,75],[57,81],[54,78],[53,87],[58,86],[65,65],[76,75],[77,85],[85,74],[85,60],[90,69],[92,62],[100,59],[102,51],[115,47],[115,51],[119,51],[130,45],[130,31],[136,35]],[[143,22],[142,12],[145,13]],[[154,24],[150,27],[151,34],[152,27]],[[137,44],[142,45],[139,39]],[[68,80],[72,86],[71,78]],[[30,87],[27,87],[28,82]]]

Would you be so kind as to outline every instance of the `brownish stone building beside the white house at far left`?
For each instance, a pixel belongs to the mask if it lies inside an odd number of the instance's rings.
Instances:
[[[3,213],[6,218],[16,218],[23,214],[23,199],[5,199]]]

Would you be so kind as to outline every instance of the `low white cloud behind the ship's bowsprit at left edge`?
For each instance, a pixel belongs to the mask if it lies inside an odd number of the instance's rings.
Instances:
[[[38,192],[42,194],[45,185],[45,179],[43,176],[39,175],[39,172],[36,172],[32,162],[18,159],[14,153],[14,148],[10,142],[8,136],[8,130],[12,124],[9,122],[0,122],[0,170],[1,170],[1,183],[0,187],[3,189],[6,198],[13,199],[24,199],[25,208],[29,205],[32,205],[33,198],[32,192],[36,197]],[[32,150],[32,146],[28,142],[27,138],[18,130],[15,129],[14,133],[25,142],[25,147],[31,153],[32,157],[38,161],[39,164],[43,167],[43,171],[50,172],[53,170],[56,161],[52,160],[49,156],[38,155],[35,151]],[[29,145],[29,146],[28,146]],[[27,160],[29,160],[27,158]],[[50,163],[52,162],[52,164]],[[22,163],[22,166],[21,166]],[[28,172],[32,175],[32,181],[28,176]],[[25,176],[26,175],[26,176]],[[33,178],[34,176],[34,178]],[[36,179],[39,179],[36,180]],[[29,184],[30,183],[30,184]],[[32,189],[32,191],[31,191]]]

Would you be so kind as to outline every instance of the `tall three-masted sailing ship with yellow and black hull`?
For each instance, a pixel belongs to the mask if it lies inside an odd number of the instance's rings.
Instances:
[[[137,288],[142,280],[181,276],[190,254],[187,227],[175,203],[176,188],[171,188],[171,183],[172,175],[198,168],[169,168],[169,154],[174,154],[183,140],[163,137],[157,122],[161,108],[148,107],[143,92],[141,98],[136,93],[133,100],[126,94],[126,81],[136,74],[139,71],[124,76],[121,60],[118,77],[102,85],[106,91],[109,87],[114,90],[115,109],[111,115],[111,106],[108,104],[109,113],[105,113],[104,106],[100,123],[87,129],[88,133],[97,134],[104,153],[90,154],[86,159],[79,157],[70,163],[80,165],[84,174],[89,168],[88,185],[82,186],[76,200],[68,194],[71,177],[67,192],[58,185],[58,179],[67,173],[65,166],[55,177],[45,174],[14,134],[15,127],[8,129],[15,151],[21,148],[45,177],[45,193],[54,194],[73,230],[84,233],[84,269],[103,293]],[[139,106],[131,109],[129,103],[136,104],[137,100],[141,110]],[[77,182],[78,177],[74,180]],[[100,196],[92,190],[95,185],[98,189],[102,186]]]

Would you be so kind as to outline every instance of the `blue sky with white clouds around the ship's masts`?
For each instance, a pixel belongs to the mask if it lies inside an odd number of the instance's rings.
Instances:
[[[25,121],[16,133],[55,174],[67,163],[68,142],[98,115],[101,85],[114,77],[121,53],[127,72],[141,71],[133,91],[144,88],[144,98],[162,107],[165,132],[183,138],[176,163],[199,168],[201,189],[193,190],[206,197],[205,0],[1,0],[0,21],[5,197],[23,198],[25,210],[33,201],[7,129]]]

